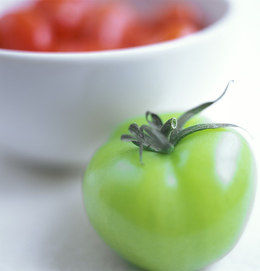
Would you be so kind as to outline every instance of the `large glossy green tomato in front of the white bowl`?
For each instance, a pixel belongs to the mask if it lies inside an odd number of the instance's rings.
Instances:
[[[162,115],[162,120],[179,113]],[[152,271],[198,270],[236,244],[251,212],[256,167],[232,128],[199,131],[170,154],[143,152],[120,140],[119,126],[94,155],[84,201],[98,234],[125,259]],[[185,125],[203,123],[191,118]]]

